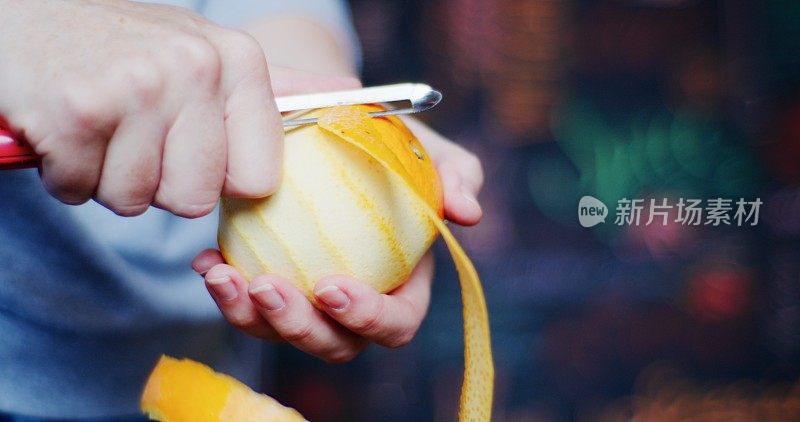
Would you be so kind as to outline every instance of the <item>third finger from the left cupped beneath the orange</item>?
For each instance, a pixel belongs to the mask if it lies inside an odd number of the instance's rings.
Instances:
[[[261,316],[298,349],[328,362],[347,362],[367,345],[364,339],[336,324],[295,288],[274,275],[256,277],[250,296]]]

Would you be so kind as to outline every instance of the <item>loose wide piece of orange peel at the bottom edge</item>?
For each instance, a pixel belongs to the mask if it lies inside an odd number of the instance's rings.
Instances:
[[[297,422],[296,410],[189,359],[162,356],[147,380],[142,411],[161,422]]]

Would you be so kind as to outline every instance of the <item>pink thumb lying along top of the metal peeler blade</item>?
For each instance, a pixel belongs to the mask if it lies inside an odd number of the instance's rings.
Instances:
[[[361,88],[355,76],[332,76],[282,66],[269,66],[275,96]]]

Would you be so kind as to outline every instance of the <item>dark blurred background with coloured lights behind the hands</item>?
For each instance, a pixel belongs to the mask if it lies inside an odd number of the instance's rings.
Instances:
[[[421,80],[475,151],[495,419],[800,420],[800,2],[352,0],[366,85]],[[756,226],[583,228],[577,203],[763,201]],[[454,420],[458,281],[414,342],[267,390],[314,421]]]

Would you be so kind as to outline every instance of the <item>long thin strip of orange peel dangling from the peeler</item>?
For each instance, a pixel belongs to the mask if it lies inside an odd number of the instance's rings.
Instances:
[[[456,265],[461,284],[464,316],[464,382],[461,386],[459,420],[488,421],[491,419],[494,391],[494,364],[489,335],[489,313],[480,278],[475,266],[432,207],[429,188],[414,171],[413,164],[387,148],[377,137],[372,117],[356,107],[336,107],[320,116],[318,125],[337,138],[360,149],[380,163],[390,173],[402,178],[414,191],[414,200],[425,209],[431,222],[442,234],[450,256]],[[412,145],[413,147],[413,145]],[[410,170],[410,171],[409,171]]]

